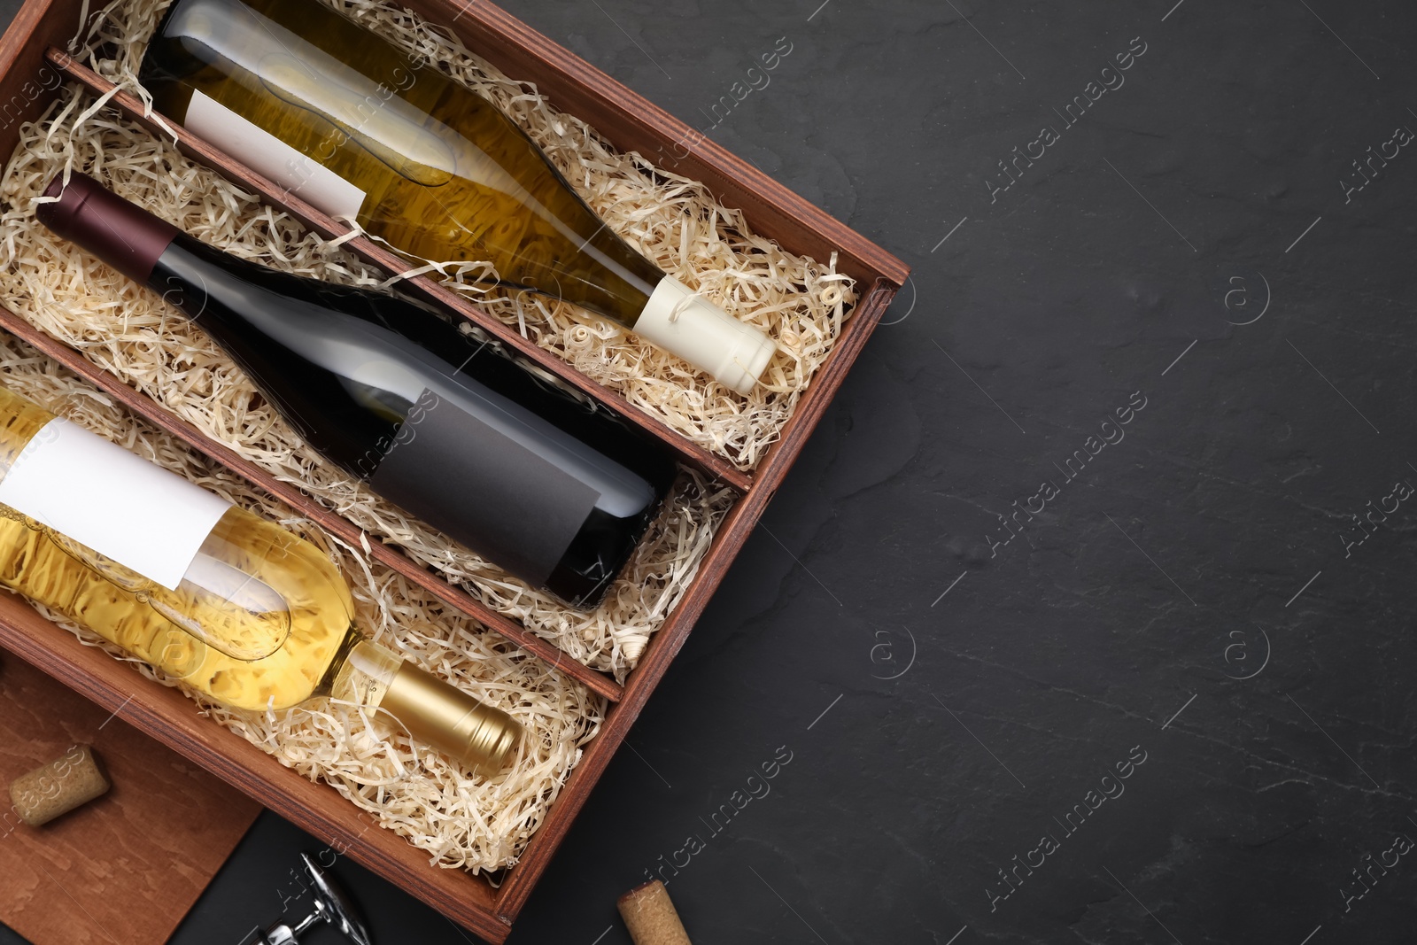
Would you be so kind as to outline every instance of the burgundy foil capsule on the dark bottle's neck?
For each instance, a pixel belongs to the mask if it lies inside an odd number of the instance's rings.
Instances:
[[[71,174],[68,184],[64,174],[55,174],[44,196],[57,200],[35,208],[40,222],[145,285],[157,258],[181,232],[85,174]]]

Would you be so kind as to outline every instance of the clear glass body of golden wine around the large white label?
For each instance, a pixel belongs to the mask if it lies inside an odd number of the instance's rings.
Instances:
[[[0,390],[0,477],[50,419]],[[0,504],[0,584],[234,708],[322,694],[351,633],[353,602],[334,565],[237,507],[169,591]]]

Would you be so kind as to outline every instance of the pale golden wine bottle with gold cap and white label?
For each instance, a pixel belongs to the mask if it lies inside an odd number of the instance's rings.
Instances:
[[[0,584],[232,708],[383,708],[483,775],[520,725],[353,625],[319,548],[0,388]]]

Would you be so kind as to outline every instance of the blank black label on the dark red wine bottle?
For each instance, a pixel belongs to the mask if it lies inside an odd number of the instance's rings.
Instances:
[[[599,493],[429,390],[370,486],[533,587],[546,584]]]

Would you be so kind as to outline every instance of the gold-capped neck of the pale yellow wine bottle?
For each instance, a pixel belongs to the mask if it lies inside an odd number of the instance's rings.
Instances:
[[[506,713],[486,706],[432,673],[350,629],[317,696],[381,708],[414,740],[490,778],[521,737]]]

